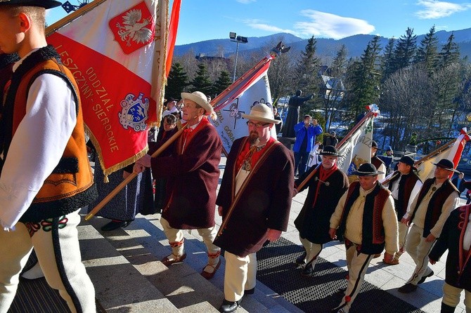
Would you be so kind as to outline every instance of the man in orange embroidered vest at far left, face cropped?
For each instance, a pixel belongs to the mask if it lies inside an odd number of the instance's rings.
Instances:
[[[52,0],[0,1],[0,47],[18,53],[0,133],[0,312],[8,311],[32,248],[48,284],[71,312],[96,312],[82,264],[79,208],[96,197],[82,106],[72,73],[47,46]],[[32,157],[34,156],[34,157]]]

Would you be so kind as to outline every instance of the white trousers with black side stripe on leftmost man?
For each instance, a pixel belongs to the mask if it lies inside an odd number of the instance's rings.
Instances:
[[[11,232],[0,229],[0,313],[6,313],[13,302],[33,247],[46,281],[59,291],[70,311],[96,312],[95,289],[80,255],[79,222],[77,210],[39,223],[18,222]]]

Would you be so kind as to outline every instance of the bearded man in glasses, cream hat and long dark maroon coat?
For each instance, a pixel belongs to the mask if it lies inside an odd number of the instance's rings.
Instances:
[[[226,251],[221,312],[236,311],[254,293],[256,253],[287,229],[294,185],[292,154],[271,136],[279,123],[271,107],[254,105],[243,118],[250,135],[234,141],[216,201],[223,222],[214,244]]]

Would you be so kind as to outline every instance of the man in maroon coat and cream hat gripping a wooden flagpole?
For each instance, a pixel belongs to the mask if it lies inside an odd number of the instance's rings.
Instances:
[[[208,263],[202,276],[211,279],[221,260],[221,249],[214,246],[216,189],[219,182],[221,138],[206,115],[214,114],[206,95],[200,91],[181,93],[183,119],[186,130],[177,140],[171,156],[151,158],[146,154],[136,161],[135,173],[152,167],[155,178],[167,178],[166,204],[160,220],[172,246],[172,254],[165,257],[164,265],[185,260],[182,229],[198,229],[207,246]]]

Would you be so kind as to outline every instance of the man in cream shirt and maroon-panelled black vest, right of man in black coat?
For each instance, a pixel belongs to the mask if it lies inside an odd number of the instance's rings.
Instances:
[[[349,312],[376,253],[386,249],[385,260],[390,261],[399,250],[393,199],[378,174],[373,164],[361,164],[353,172],[359,181],[351,183],[330,218],[330,238],[345,241],[349,277],[345,296],[332,312]]]

